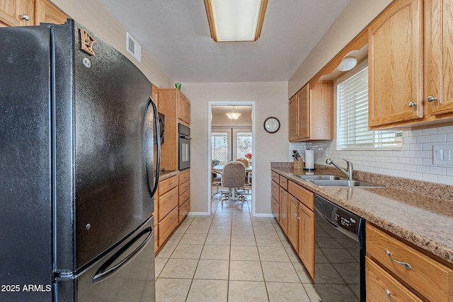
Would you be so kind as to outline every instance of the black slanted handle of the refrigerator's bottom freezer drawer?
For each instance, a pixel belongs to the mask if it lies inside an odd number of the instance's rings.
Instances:
[[[144,234],[146,234],[146,233],[148,233],[148,235],[146,238],[144,238],[143,242],[140,243],[140,245],[133,252],[131,252],[126,257],[124,257],[120,262],[117,262],[117,260],[126,252],[126,250],[128,248],[130,248],[131,245],[136,243],[137,240],[142,238],[142,236],[144,236]],[[123,248],[121,248],[121,250],[119,250],[117,253],[115,253],[115,255],[113,255],[113,257],[111,257],[109,260],[107,260],[98,269],[98,272],[96,272],[96,274],[93,277],[93,284],[101,282],[104,279],[112,276],[113,274],[115,274],[115,272],[118,272],[120,269],[122,269],[122,267],[127,265],[127,263],[130,262],[130,260],[132,260],[136,255],[139,254],[139,252],[141,252],[144,249],[144,247],[149,243],[149,240],[151,240],[151,238],[153,237],[153,234],[154,234],[154,230],[151,228],[151,226],[149,226],[148,228],[145,228],[144,231],[140,232],[137,236],[135,236],[135,238],[130,240],[130,242],[127,243],[127,245],[125,245]],[[110,267],[115,262],[117,262],[117,264],[114,265],[113,267]]]

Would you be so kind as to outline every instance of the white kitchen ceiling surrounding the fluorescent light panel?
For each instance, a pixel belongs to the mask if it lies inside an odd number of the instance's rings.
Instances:
[[[269,0],[256,42],[210,37],[203,0],[102,0],[173,81],[288,81],[349,0]]]

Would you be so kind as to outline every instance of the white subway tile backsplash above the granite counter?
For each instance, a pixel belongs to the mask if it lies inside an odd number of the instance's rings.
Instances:
[[[399,151],[343,151],[336,149],[336,140],[289,143],[289,161],[292,150],[298,150],[302,158],[306,148],[314,149],[315,163],[325,164],[326,158],[338,161],[346,167],[341,158],[352,161],[355,170],[370,173],[436,182],[453,185],[453,165],[435,165],[432,146],[452,145],[453,126],[403,131],[403,149]],[[453,161],[453,154],[452,161]]]

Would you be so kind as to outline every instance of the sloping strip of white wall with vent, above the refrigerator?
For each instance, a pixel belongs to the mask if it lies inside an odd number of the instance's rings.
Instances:
[[[156,62],[142,49],[142,62],[126,50],[126,28],[102,4],[101,0],[52,0],[68,16],[86,26],[132,61],[157,87],[171,87],[171,81]],[[132,36],[134,33],[131,33]],[[137,41],[140,43],[140,41]],[[96,46],[96,45],[95,45]]]

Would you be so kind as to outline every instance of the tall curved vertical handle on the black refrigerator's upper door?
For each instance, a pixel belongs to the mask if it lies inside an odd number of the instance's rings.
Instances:
[[[156,161],[156,178],[154,179],[154,187],[151,190],[151,187],[149,187],[149,173],[148,173],[148,158],[147,158],[147,113],[148,113],[148,108],[149,105],[152,106],[153,108],[153,114],[154,114],[154,126],[155,126],[155,131],[156,131],[156,140],[157,140],[157,161]],[[145,107],[144,110],[144,173],[145,173],[145,178],[147,180],[147,188],[148,188],[148,193],[149,197],[153,197],[154,194],[156,193],[157,186],[159,185],[159,172],[161,170],[161,137],[159,135],[159,115],[157,112],[156,104],[154,103],[154,100],[151,98],[151,96],[148,98],[147,101],[147,106]]]

